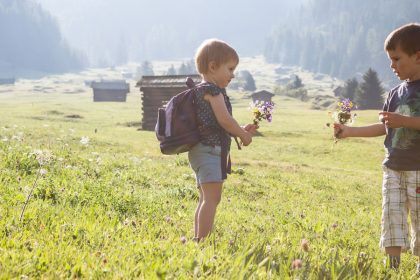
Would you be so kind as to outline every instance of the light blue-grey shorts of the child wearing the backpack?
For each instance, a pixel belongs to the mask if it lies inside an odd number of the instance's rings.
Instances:
[[[198,143],[188,152],[197,185],[223,182],[220,159],[221,147]]]

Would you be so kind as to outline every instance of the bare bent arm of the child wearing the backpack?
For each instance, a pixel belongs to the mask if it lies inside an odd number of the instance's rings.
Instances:
[[[248,146],[252,142],[252,134],[243,129],[236,120],[229,114],[223,95],[212,96],[206,94],[204,99],[210,103],[210,106],[216,116],[219,125],[233,136],[241,138],[244,146]]]

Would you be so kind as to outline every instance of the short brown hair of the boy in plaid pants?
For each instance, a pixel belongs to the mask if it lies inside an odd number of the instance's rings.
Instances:
[[[420,51],[420,24],[409,23],[392,31],[385,40],[384,49],[393,51],[397,47],[408,55]]]

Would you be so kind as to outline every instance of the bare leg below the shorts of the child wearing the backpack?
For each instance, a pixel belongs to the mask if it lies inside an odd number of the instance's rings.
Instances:
[[[206,237],[213,228],[216,208],[222,197],[222,187],[222,182],[201,185],[203,202],[198,212],[198,239]]]

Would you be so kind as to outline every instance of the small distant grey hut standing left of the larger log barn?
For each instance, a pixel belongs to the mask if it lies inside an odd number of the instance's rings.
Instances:
[[[130,92],[130,85],[124,80],[92,81],[90,86],[94,102],[125,102]]]

